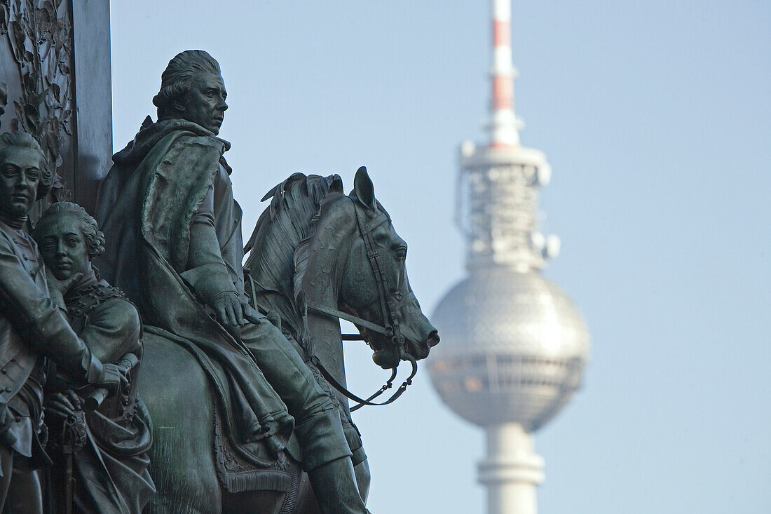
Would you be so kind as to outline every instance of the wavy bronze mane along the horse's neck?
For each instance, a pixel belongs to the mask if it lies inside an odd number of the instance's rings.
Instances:
[[[305,298],[302,281],[311,255],[322,203],[332,193],[342,194],[342,178],[292,174],[262,198],[271,199],[244,246],[250,252],[244,264],[251,277],[254,307],[277,313],[282,324],[301,341]]]

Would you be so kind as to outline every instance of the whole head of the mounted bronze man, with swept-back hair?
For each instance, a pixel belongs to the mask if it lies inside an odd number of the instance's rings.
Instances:
[[[203,50],[185,50],[169,61],[153,98],[158,119],[177,118],[219,134],[227,110],[220,65]]]

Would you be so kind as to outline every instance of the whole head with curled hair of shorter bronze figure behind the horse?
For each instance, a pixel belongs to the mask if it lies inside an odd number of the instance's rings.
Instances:
[[[56,279],[91,271],[91,260],[104,253],[104,234],[80,205],[59,201],[45,210],[32,232],[43,262]]]

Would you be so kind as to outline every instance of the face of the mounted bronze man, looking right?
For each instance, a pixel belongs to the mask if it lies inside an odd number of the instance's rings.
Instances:
[[[181,110],[185,120],[199,124],[214,134],[220,133],[224,113],[227,110],[227,91],[218,73],[198,72],[193,89],[182,99]]]

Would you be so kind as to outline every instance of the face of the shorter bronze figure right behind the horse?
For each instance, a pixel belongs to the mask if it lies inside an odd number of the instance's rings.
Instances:
[[[70,215],[52,216],[42,221],[37,233],[40,255],[56,279],[66,280],[91,269],[79,220]]]

